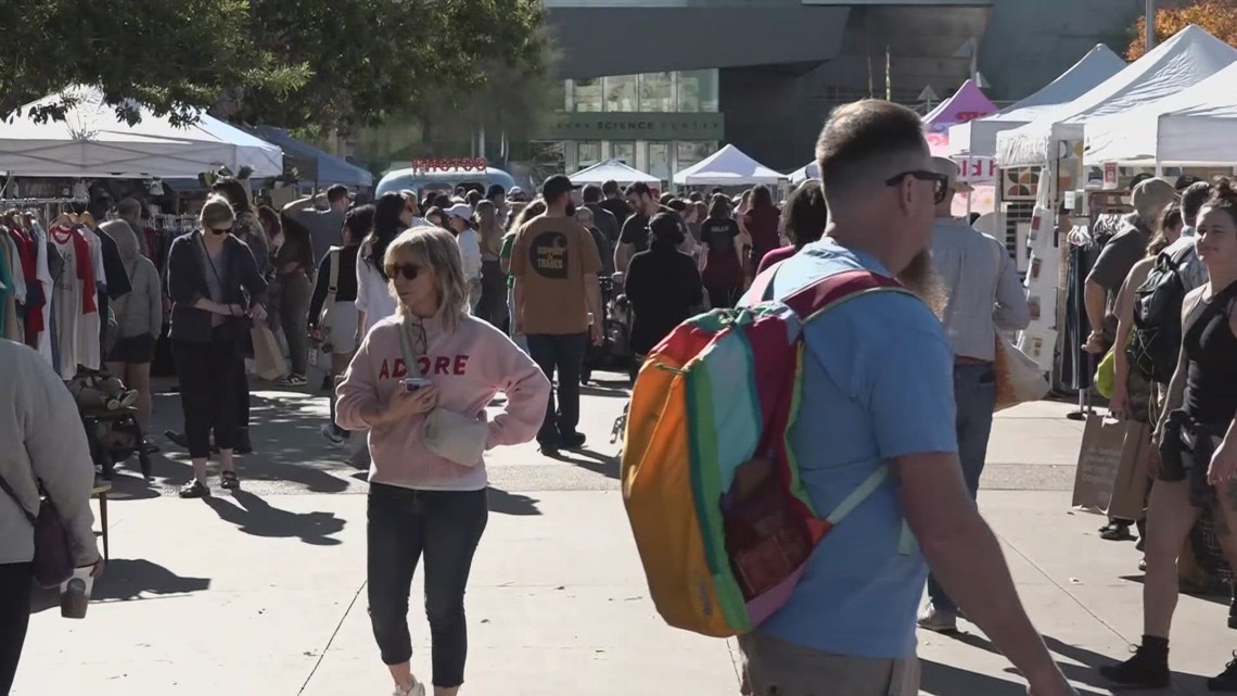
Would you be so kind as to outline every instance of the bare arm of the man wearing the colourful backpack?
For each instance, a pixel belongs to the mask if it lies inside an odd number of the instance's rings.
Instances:
[[[996,535],[980,516],[954,453],[894,459],[907,524],[933,573],[1030,682],[1058,692],[1064,677],[1023,609]],[[1055,685],[1055,686],[1054,686]]]

